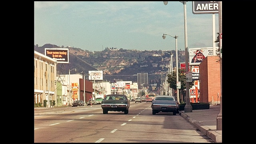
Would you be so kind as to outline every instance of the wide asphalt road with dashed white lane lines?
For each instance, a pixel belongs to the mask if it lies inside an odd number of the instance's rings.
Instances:
[[[100,105],[34,111],[34,142],[202,142],[213,141],[180,115],[152,115],[151,102],[131,102],[128,114],[102,114]]]

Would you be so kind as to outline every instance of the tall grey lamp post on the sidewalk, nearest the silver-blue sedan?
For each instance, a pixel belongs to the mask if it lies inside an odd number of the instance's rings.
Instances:
[[[188,37],[187,37],[187,1],[180,1],[184,6],[184,35],[185,35],[185,63],[186,63],[186,72],[188,72]],[[168,1],[164,1],[164,5],[167,5]],[[186,105],[184,107],[184,112],[192,112],[192,106],[190,104],[189,98],[189,83],[186,82]]]

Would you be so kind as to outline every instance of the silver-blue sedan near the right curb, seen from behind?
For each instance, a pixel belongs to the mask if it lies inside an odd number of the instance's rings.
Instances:
[[[159,112],[172,112],[176,115],[179,104],[174,96],[156,96],[151,104],[152,114],[155,115]]]

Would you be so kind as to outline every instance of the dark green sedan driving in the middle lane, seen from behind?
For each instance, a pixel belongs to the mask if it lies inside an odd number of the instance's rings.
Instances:
[[[130,101],[124,94],[108,94],[102,100],[101,108],[103,114],[108,114],[108,111],[118,111],[128,114]]]

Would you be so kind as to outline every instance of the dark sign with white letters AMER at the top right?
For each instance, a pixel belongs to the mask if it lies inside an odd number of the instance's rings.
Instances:
[[[193,1],[193,14],[218,14],[218,1]]]

